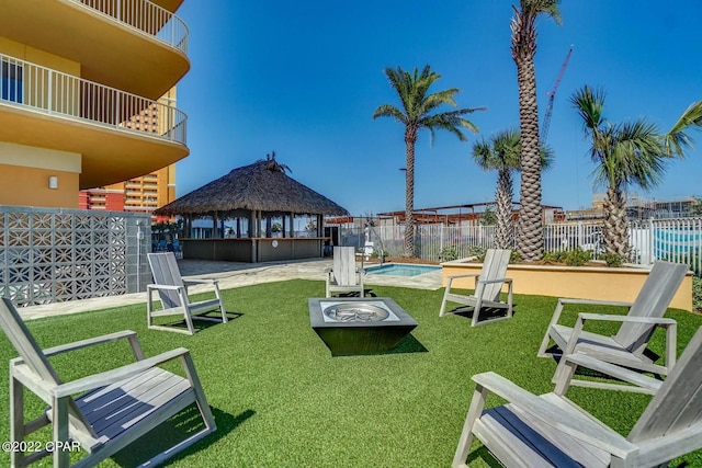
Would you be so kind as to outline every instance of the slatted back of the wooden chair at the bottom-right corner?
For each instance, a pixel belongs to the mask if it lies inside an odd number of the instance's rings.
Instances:
[[[666,377],[627,438],[639,443],[659,436],[682,435],[702,422],[702,328]],[[699,430],[698,430],[699,431]],[[699,437],[699,435],[698,435]]]

